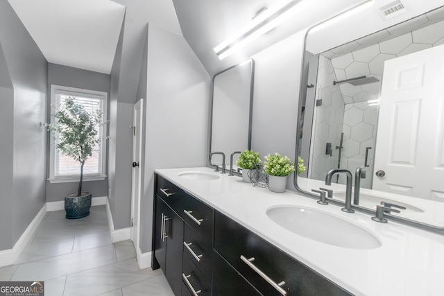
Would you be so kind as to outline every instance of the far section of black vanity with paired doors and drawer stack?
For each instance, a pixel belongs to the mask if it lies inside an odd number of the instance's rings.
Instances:
[[[211,295],[213,221],[212,207],[156,175],[152,266],[174,295]]]

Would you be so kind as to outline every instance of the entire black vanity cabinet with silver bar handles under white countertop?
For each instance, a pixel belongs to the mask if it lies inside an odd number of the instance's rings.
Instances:
[[[152,266],[176,296],[350,295],[160,175],[153,223]]]

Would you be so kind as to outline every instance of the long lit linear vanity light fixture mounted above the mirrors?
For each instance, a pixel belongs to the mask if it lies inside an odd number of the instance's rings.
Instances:
[[[307,7],[309,2],[308,0],[282,0],[276,5],[260,10],[246,26],[214,47],[214,52],[219,57],[219,60],[223,60],[241,48],[241,46],[245,46],[257,37],[282,24],[296,11]]]

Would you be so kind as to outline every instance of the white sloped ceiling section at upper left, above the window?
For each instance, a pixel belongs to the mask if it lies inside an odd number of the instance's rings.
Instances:
[[[48,62],[110,73],[125,6],[110,0],[8,0]]]

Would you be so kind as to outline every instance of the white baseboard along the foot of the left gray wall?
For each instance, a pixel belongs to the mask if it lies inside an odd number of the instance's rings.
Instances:
[[[12,265],[17,260],[18,256],[22,253],[26,244],[31,241],[33,235],[35,234],[35,230],[39,226],[40,222],[42,222],[44,215],[46,214],[46,204],[40,209],[40,211],[35,215],[34,219],[28,225],[28,227],[23,232],[22,236],[20,236],[17,243],[15,243],[12,249],[2,250],[0,251],[0,267],[6,265]]]

